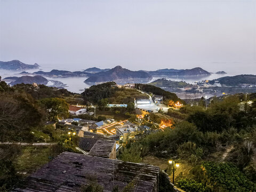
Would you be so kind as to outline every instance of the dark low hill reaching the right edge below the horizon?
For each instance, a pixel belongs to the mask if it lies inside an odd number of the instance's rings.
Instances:
[[[211,84],[218,81],[221,85],[226,86],[241,86],[243,84],[255,85],[256,75],[236,75],[236,76],[226,76],[210,81]]]

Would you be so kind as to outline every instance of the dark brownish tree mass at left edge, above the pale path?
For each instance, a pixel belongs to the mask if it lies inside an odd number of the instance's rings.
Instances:
[[[43,110],[24,92],[1,94],[0,111],[0,141],[29,140],[31,128],[43,123]]]

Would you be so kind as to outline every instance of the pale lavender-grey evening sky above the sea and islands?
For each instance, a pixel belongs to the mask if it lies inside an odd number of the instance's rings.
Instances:
[[[13,59],[256,74],[256,0],[0,0],[0,60]]]

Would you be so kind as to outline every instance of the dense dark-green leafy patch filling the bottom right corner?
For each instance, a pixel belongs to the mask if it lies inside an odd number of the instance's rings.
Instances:
[[[225,191],[255,191],[256,184],[231,163],[203,162],[204,182],[213,190]]]

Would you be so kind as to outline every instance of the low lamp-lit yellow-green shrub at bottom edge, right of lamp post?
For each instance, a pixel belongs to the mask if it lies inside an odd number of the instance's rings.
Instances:
[[[187,192],[206,192],[207,190],[202,183],[198,183],[193,179],[181,179],[178,181],[179,187]]]

